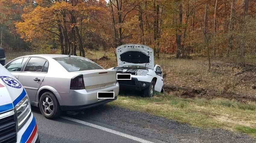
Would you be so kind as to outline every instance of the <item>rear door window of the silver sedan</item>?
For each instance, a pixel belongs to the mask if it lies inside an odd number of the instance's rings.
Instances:
[[[32,57],[29,59],[28,64],[26,65],[26,68],[24,71],[29,71],[29,72],[41,72],[44,63],[46,60],[41,59],[41,58],[35,58]]]

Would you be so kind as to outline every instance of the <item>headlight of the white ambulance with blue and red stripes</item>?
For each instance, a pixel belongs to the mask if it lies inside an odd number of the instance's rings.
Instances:
[[[29,97],[26,95],[16,106],[18,130],[27,122],[31,115]]]

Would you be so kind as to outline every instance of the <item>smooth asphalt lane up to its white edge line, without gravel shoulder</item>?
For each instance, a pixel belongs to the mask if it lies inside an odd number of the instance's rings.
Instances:
[[[38,126],[38,134],[41,140],[41,143],[112,143],[112,142],[120,142],[120,143],[139,143],[139,142],[156,142],[162,143],[162,141],[150,138],[147,136],[143,136],[140,134],[136,134],[127,130],[123,130],[112,125],[100,123],[97,121],[90,120],[87,116],[88,114],[80,114],[77,116],[68,116],[66,114],[62,115],[59,118],[49,120],[44,118],[41,114],[39,108],[32,107],[33,115],[35,116],[37,126]],[[71,117],[71,118],[70,118]],[[77,120],[75,118],[81,117],[83,119]],[[64,119],[68,118],[68,119]],[[75,120],[75,121],[71,121]],[[100,129],[84,125],[78,122],[86,122],[91,123],[93,125],[98,125]],[[106,128],[109,130],[114,130],[118,133],[122,133],[120,135],[102,130]],[[130,135],[130,136],[129,136]],[[127,138],[128,137],[128,138]],[[132,139],[129,139],[132,138]],[[133,139],[135,138],[135,140]],[[136,141],[139,140],[139,141]]]

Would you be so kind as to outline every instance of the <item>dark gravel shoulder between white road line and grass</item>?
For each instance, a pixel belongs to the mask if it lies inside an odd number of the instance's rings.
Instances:
[[[70,117],[79,120],[90,119],[163,142],[256,142],[243,133],[190,127],[188,124],[108,104],[90,108],[85,110],[85,114]]]

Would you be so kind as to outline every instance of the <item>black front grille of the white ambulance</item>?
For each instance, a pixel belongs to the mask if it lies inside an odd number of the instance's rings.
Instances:
[[[17,142],[17,124],[14,111],[0,114],[0,143]]]

